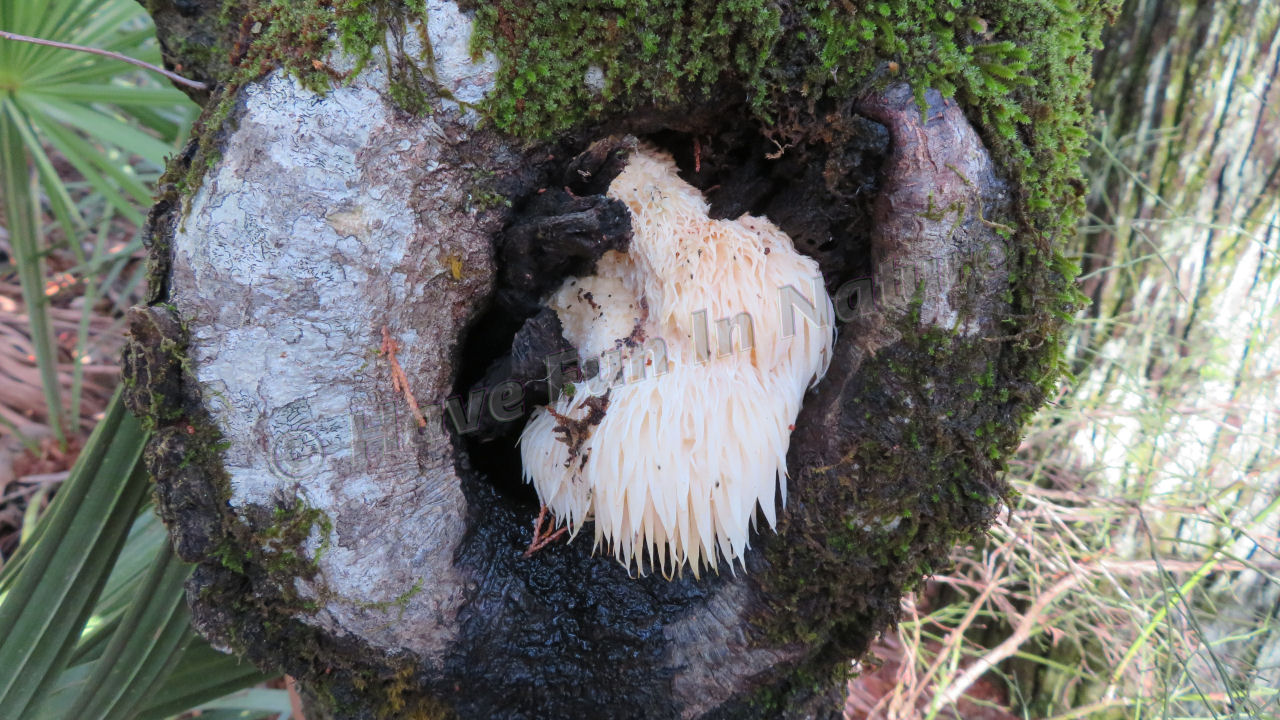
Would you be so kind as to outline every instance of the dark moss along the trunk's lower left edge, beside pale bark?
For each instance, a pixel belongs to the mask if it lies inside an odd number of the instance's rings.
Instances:
[[[183,372],[187,361],[183,334],[164,336],[155,342],[155,346],[165,347],[163,354],[151,355],[156,364],[166,368],[164,373]],[[161,370],[151,368],[147,375],[156,378],[159,373]],[[223,452],[228,446],[201,409],[198,389],[192,379],[188,377],[184,383],[184,400],[156,395],[156,405],[147,409],[157,428],[147,446],[148,466],[173,473],[173,468],[179,465],[177,474],[160,482],[170,486],[198,483],[209,488],[201,495],[207,492],[212,497],[201,510],[169,507],[161,501],[161,515],[170,524],[188,528],[207,525],[219,533],[201,560],[200,574],[204,578],[201,602],[234,619],[218,626],[224,633],[223,639],[237,652],[248,653],[259,662],[283,664],[276,666],[303,679],[308,692],[325,697],[330,707],[340,707],[343,702],[334,697],[332,688],[342,688],[356,670],[335,661],[332,650],[320,638],[320,630],[297,620],[298,615],[315,612],[328,601],[326,591],[316,583],[312,584],[319,587],[320,598],[301,598],[296,579],[316,577],[316,564],[332,542],[333,521],[321,510],[296,497],[282,498],[270,507],[232,510],[230,478],[223,465]],[[145,377],[133,378],[133,382],[146,384]],[[157,495],[165,497],[165,493]],[[197,516],[201,512],[205,515]],[[307,547],[316,536],[320,542],[312,553]],[[219,579],[209,582],[211,574]],[[415,585],[392,605],[407,603],[420,589],[420,584]],[[275,648],[274,655],[270,659],[253,655],[262,647]],[[376,669],[360,671],[367,674],[371,692],[383,692],[374,701],[387,708],[381,717],[444,716],[434,700],[421,698],[415,692],[416,685],[410,680],[412,667],[404,662],[388,661]],[[355,707],[366,701],[348,697],[346,702]]]

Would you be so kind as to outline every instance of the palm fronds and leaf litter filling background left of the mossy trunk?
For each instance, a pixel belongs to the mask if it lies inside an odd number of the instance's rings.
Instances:
[[[0,0],[0,29],[160,61],[132,0]],[[15,552],[0,538],[6,719],[289,711],[285,691],[219,700],[265,678],[191,630],[191,569],[150,510],[145,433],[111,397],[122,313],[141,291],[137,231],[193,115],[129,65],[0,40],[0,277],[20,288],[0,296],[0,512],[20,510],[23,536]]]

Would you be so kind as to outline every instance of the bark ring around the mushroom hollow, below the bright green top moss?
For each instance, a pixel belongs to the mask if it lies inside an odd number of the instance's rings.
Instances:
[[[170,63],[198,64],[178,42],[192,28],[234,54],[207,4],[151,9]],[[128,395],[155,424],[161,514],[198,562],[196,626],[335,717],[837,716],[841,664],[1004,492],[977,439],[1024,416],[978,391],[1019,352],[1000,169],[955,101],[929,91],[922,111],[904,85],[768,161],[773,146],[716,99],[520,142],[471,106],[495,67],[470,56],[468,17],[445,0],[426,14],[393,31],[397,58],[324,58],[344,76],[328,92],[284,70],[224,86],[210,108],[229,113],[206,113],[152,213]],[[429,115],[392,100],[404,58],[447,90]],[[836,293],[836,357],[796,423],[778,534],[756,536],[748,573],[635,578],[581,539],[526,557],[538,506],[509,430],[467,432],[486,401],[467,391],[490,361],[521,364],[495,348],[536,316],[536,273],[512,272],[538,260],[530,228],[617,241],[607,204],[580,202],[599,193],[582,163],[607,164],[579,152],[626,133],[678,142],[718,211],[768,210]],[[695,137],[753,160],[709,143],[704,173]],[[846,182],[859,192],[837,200]],[[552,255],[530,266],[570,272]]]

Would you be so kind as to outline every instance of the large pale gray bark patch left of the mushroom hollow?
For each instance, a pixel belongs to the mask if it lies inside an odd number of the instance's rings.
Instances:
[[[321,607],[305,621],[438,656],[466,505],[448,437],[419,430],[379,346],[387,327],[422,405],[443,400],[490,243],[447,158],[466,126],[404,118],[370,76],[325,96],[279,73],[244,88],[174,234],[172,300],[229,443],[232,507],[297,497],[332,520],[307,542],[317,574],[297,580]]]

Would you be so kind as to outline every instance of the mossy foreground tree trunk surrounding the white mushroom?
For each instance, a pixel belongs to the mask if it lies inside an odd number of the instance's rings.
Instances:
[[[915,5],[154,0],[169,64],[214,86],[127,354],[197,628],[335,717],[837,716],[849,659],[993,519],[1057,375],[1106,8]],[[746,571],[525,552],[518,423],[476,419],[486,372],[562,342],[522,329],[541,295],[626,240],[600,181],[631,136],[836,299]]]

